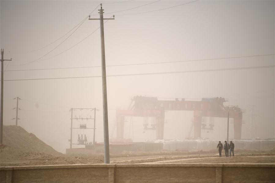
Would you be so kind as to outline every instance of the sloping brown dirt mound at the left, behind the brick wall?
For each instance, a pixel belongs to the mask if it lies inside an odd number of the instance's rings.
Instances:
[[[3,126],[3,144],[8,147],[3,146],[2,148],[10,148],[11,153],[15,155],[22,152],[35,152],[45,153],[46,156],[63,156],[61,152],[57,152],[21,126]]]

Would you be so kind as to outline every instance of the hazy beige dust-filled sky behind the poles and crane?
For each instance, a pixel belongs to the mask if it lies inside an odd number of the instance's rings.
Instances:
[[[1,0],[1,48],[4,59],[13,58],[4,62],[4,80],[17,80],[4,81],[4,125],[15,124],[12,99],[20,97],[18,124],[65,152],[70,108],[97,108],[95,138],[103,141],[101,77],[47,79],[101,75],[100,67],[91,67],[101,65],[99,20],[81,24],[94,9],[91,18],[99,18],[99,3],[105,18],[115,15],[104,24],[106,72],[123,75],[107,77],[110,138],[116,137],[115,109],[127,108],[136,95],[159,100],[228,98],[225,105],[246,110],[243,139],[251,137],[250,105],[255,105],[252,138],[274,138],[274,67],[213,71],[274,65],[274,1]],[[154,74],[159,72],[164,74]],[[140,73],[151,74],[128,75]],[[82,110],[73,115],[86,118],[93,113]],[[190,111],[165,112],[164,139],[184,139],[192,117]],[[214,130],[203,131],[202,137],[224,140],[227,119],[214,121]],[[73,124],[86,123],[93,126],[87,120]],[[156,138],[155,131],[143,132],[142,118],[126,119],[125,138]],[[92,130],[74,130],[74,143],[78,134],[87,134],[92,141]],[[233,138],[231,123],[229,138]]]

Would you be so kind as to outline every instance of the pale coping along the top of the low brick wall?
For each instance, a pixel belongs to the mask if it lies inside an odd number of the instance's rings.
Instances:
[[[29,169],[59,169],[59,168],[112,168],[112,167],[275,167],[275,164],[211,164],[211,163],[186,163],[186,164],[79,164],[79,165],[44,165],[0,167],[0,170],[29,170]]]

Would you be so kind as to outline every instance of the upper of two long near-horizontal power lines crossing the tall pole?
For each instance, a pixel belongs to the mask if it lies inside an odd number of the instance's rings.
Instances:
[[[99,27],[98,27],[99,28]],[[97,30],[97,29],[96,29]],[[95,30],[95,31],[96,31]],[[83,41],[83,40],[82,40]],[[63,53],[63,52],[62,52]],[[61,53],[60,53],[61,54]],[[139,64],[120,64],[120,65],[106,65],[106,67],[116,67],[116,66],[132,66],[132,65],[148,65],[148,64],[166,64],[166,63],[177,63],[177,62],[191,62],[191,61],[205,61],[205,60],[220,60],[220,59],[232,59],[232,58],[245,58],[245,57],[260,57],[260,56],[270,56],[274,54],[265,55],[251,55],[251,56],[241,56],[241,57],[223,57],[223,58],[211,58],[211,59],[200,59],[200,60],[181,60],[181,61],[171,61],[171,62],[151,62],[151,63],[139,63]],[[56,55],[57,56],[57,55]],[[48,58],[49,59],[49,58]],[[42,61],[42,60],[39,60]],[[77,68],[98,68],[101,66],[84,66],[84,67],[68,67],[68,68],[46,68],[46,69],[21,69],[21,70],[7,70],[7,71],[38,71],[38,70],[56,70],[56,69],[77,69]],[[6,71],[6,72],[7,72]]]

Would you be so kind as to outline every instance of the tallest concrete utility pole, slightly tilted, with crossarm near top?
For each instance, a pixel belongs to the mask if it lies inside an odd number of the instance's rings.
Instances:
[[[102,97],[103,97],[103,132],[104,132],[104,163],[110,163],[109,151],[109,129],[108,129],[108,105],[107,105],[107,86],[106,86],[106,64],[105,64],[105,44],[103,20],[114,20],[113,18],[103,18],[102,3],[100,3],[99,19],[90,18],[89,20],[100,20],[100,38],[101,38],[101,71],[102,71]]]

